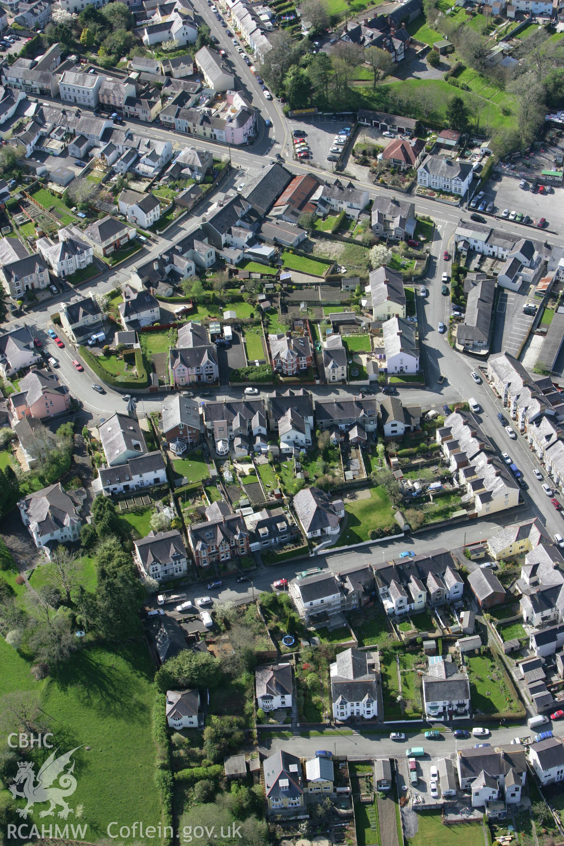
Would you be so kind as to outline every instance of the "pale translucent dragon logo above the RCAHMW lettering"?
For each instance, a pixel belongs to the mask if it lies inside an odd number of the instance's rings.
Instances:
[[[42,810],[39,816],[53,816],[57,805],[60,805],[63,810],[59,810],[58,816],[66,820],[69,814],[74,814],[74,810],[68,807],[66,798],[72,796],[76,790],[76,778],[73,775],[74,760],[70,769],[64,772],[65,766],[71,761],[72,755],[80,749],[76,746],[66,755],[60,755],[58,758],[55,754],[58,750],[49,755],[47,761],[41,766],[41,770],[37,775],[34,772],[33,764],[30,761],[20,761],[19,769],[14,783],[10,784],[9,790],[14,796],[23,796],[27,799],[25,808],[18,808],[19,816],[27,819],[28,814],[33,814],[33,806],[36,802],[49,802],[50,805],[47,810]],[[57,781],[58,787],[52,787],[52,783]],[[23,790],[19,791],[18,784],[23,785]]]

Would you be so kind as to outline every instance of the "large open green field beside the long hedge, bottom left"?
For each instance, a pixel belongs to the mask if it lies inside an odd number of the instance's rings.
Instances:
[[[151,740],[155,669],[142,641],[77,652],[53,678],[36,682],[30,665],[0,639],[0,664],[0,695],[34,693],[56,742],[64,751],[81,747],[74,753],[77,788],[70,805],[83,805],[84,812],[79,819],[69,816],[68,823],[88,826],[83,839],[105,841],[108,824],[116,820],[120,826],[157,825],[161,807]]]

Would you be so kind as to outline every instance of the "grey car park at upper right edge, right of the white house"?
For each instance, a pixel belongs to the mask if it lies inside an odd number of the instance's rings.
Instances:
[[[527,188],[519,188],[519,179],[510,176],[502,176],[501,179],[494,181],[490,179],[484,189],[484,200],[489,203],[493,202],[496,206],[496,213],[486,215],[486,219],[494,221],[496,217],[501,217],[501,212],[504,209],[509,211],[521,211],[523,215],[528,215],[534,222],[539,222],[541,217],[545,217],[548,225],[544,229],[539,229],[534,223],[528,226],[523,223],[516,223],[518,228],[523,228],[523,237],[528,232],[531,238],[541,237],[541,233],[560,233],[564,226],[564,207],[562,206],[562,189],[552,189],[550,194],[534,194],[531,189],[531,184],[528,182]],[[484,214],[483,211],[480,214]]]

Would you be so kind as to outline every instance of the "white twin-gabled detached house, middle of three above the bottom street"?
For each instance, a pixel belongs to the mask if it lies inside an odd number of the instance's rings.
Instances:
[[[331,664],[331,702],[338,722],[349,717],[373,720],[378,712],[380,667],[372,652],[348,649]]]

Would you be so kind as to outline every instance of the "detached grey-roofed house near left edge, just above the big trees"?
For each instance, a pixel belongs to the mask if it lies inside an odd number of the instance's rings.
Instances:
[[[28,494],[18,502],[22,522],[38,548],[47,556],[59,543],[78,541],[82,519],[79,512],[86,498],[84,488],[65,492],[60,482]]]

